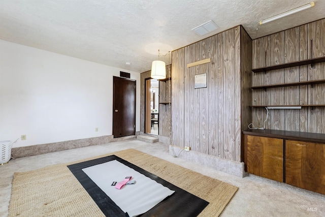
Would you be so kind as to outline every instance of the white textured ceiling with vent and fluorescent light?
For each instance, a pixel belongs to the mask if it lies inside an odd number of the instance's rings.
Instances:
[[[158,58],[236,25],[252,39],[325,17],[315,7],[258,25],[310,0],[1,0],[0,39],[135,72]],[[213,20],[200,37],[192,28]],[[258,29],[256,29],[258,28]],[[1,49],[1,48],[0,48]],[[160,60],[169,63],[168,55]],[[125,62],[131,65],[125,65]]]

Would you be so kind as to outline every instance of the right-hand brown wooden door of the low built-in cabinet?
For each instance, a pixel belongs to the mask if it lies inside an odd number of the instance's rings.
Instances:
[[[325,194],[325,144],[286,140],[285,182]]]

